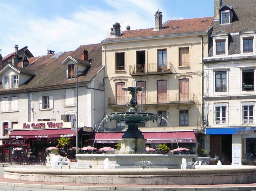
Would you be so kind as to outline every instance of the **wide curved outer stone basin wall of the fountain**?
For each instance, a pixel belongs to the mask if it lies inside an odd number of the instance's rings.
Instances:
[[[5,178],[88,184],[207,185],[256,182],[255,166],[224,169],[31,169],[5,167]]]

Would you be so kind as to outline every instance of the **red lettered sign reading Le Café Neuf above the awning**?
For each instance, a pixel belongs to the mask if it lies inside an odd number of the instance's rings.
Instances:
[[[56,122],[40,122],[40,123],[23,123],[23,129],[37,129],[37,128],[60,128],[63,127],[63,121]]]

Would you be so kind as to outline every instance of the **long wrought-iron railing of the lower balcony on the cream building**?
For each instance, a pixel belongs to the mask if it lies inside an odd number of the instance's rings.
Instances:
[[[129,105],[132,96],[108,97],[108,106]],[[177,103],[197,103],[194,93],[187,94],[161,94],[161,95],[137,95],[138,104],[177,104]]]

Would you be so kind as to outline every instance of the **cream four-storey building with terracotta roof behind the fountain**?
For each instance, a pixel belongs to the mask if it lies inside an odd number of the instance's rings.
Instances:
[[[157,113],[167,119],[140,126],[147,144],[166,143],[171,149],[186,146],[197,153],[194,132],[201,129],[202,57],[208,53],[208,29],[213,17],[163,23],[155,13],[155,28],[120,31],[115,23],[110,38],[101,42],[105,66],[106,114],[126,111],[129,93],[123,87],[147,88],[137,95],[139,111]],[[126,125],[110,122],[90,138],[96,144],[115,145]]]

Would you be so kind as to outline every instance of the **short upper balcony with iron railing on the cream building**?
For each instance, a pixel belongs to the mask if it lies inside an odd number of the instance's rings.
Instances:
[[[153,64],[136,64],[130,65],[130,75],[149,75],[161,73],[174,73],[173,64],[168,63],[153,63]]]

